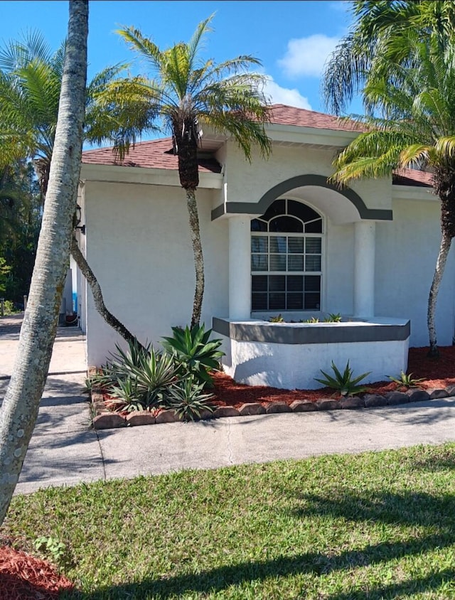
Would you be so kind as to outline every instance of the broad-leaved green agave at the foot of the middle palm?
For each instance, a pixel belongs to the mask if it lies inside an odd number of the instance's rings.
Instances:
[[[173,353],[181,366],[181,375],[192,375],[196,381],[210,387],[213,385],[210,371],[220,368],[219,359],[224,352],[218,350],[221,340],[210,340],[211,329],[205,331],[204,325],[173,327],[173,337],[163,338],[161,342],[168,353]]]

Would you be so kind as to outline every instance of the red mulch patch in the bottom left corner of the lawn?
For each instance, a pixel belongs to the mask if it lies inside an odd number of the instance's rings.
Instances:
[[[45,560],[11,546],[0,547],[1,600],[55,600],[60,591],[73,587]]]

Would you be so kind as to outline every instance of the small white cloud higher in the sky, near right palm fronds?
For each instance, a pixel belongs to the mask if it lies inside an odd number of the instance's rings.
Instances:
[[[339,38],[329,38],[322,33],[289,40],[287,52],[284,58],[278,60],[278,64],[288,77],[320,77],[338,41]]]

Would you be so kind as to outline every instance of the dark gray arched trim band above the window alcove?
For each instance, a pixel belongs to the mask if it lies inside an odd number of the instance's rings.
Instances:
[[[249,202],[227,202],[225,205],[219,205],[212,210],[212,220],[225,215],[227,213],[257,213],[263,215],[267,208],[279,198],[280,195],[294,190],[294,188],[302,188],[304,186],[319,186],[321,188],[328,188],[329,190],[336,191],[347,198],[358,211],[361,219],[373,219],[373,220],[392,220],[392,210],[385,210],[382,208],[368,208],[363,202],[362,198],[358,193],[351,190],[350,188],[337,188],[333,183],[328,183],[327,178],[323,175],[297,175],[291,177],[286,181],[278,183],[277,186],[270,188],[269,191],[264,193],[258,203],[252,204]]]

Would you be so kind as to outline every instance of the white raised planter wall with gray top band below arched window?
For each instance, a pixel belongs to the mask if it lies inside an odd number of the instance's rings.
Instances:
[[[287,390],[316,390],[321,369],[333,374],[331,361],[354,376],[371,371],[363,382],[406,372],[410,321],[371,318],[346,323],[269,323],[213,318],[223,340],[223,367],[235,381]]]

